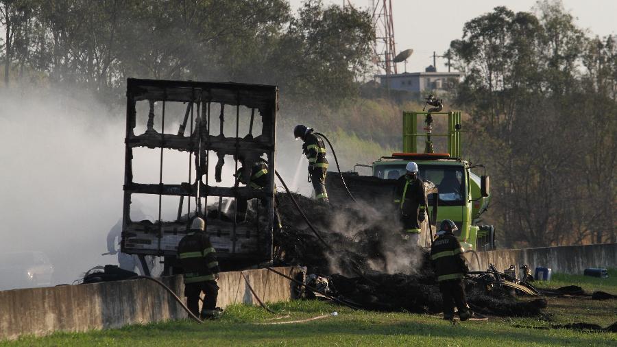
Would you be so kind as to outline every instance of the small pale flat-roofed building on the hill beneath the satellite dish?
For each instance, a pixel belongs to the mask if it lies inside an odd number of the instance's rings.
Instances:
[[[376,75],[382,86],[398,91],[439,91],[448,88],[454,80],[461,78],[458,71],[437,72],[433,66],[427,67],[425,72],[404,72],[393,75]]]

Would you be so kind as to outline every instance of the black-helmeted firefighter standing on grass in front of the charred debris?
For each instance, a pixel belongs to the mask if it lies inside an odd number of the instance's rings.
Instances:
[[[468,320],[473,317],[473,313],[465,298],[463,276],[469,271],[469,267],[463,256],[465,250],[454,235],[458,228],[450,219],[445,219],[439,229],[437,239],[431,246],[431,261],[444,302],[444,320],[454,319],[455,306],[459,310],[461,321]]]

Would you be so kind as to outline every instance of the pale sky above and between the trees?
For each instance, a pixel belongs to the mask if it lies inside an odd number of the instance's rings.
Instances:
[[[343,4],[343,0],[323,0],[324,3]],[[375,0],[377,1],[377,0]],[[379,0],[382,1],[382,0]],[[350,0],[352,5],[365,9],[372,0]],[[290,0],[297,9],[302,0]],[[514,12],[531,11],[536,0],[392,0],[394,13],[394,38],[396,53],[413,49],[407,60],[407,72],[424,71],[433,64],[433,51],[440,56],[450,41],[461,38],[463,25],[493,8],[505,5]],[[617,0],[564,0],[564,8],[576,18],[583,29],[598,36],[617,33]],[[404,64],[398,64],[398,72],[404,71]],[[444,60],[437,58],[437,71],[447,71]]]

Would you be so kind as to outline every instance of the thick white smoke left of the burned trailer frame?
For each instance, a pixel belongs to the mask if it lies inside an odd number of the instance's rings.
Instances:
[[[4,91],[0,103],[0,252],[45,252],[52,284],[114,263],[101,253],[122,211],[121,117],[87,95]]]

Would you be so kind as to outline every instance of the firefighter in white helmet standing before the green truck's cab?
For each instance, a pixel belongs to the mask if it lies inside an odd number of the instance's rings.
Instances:
[[[396,182],[394,204],[403,225],[403,239],[417,245],[420,226],[426,218],[426,192],[422,178],[418,177],[418,165],[410,161],[405,170],[407,172]]]

